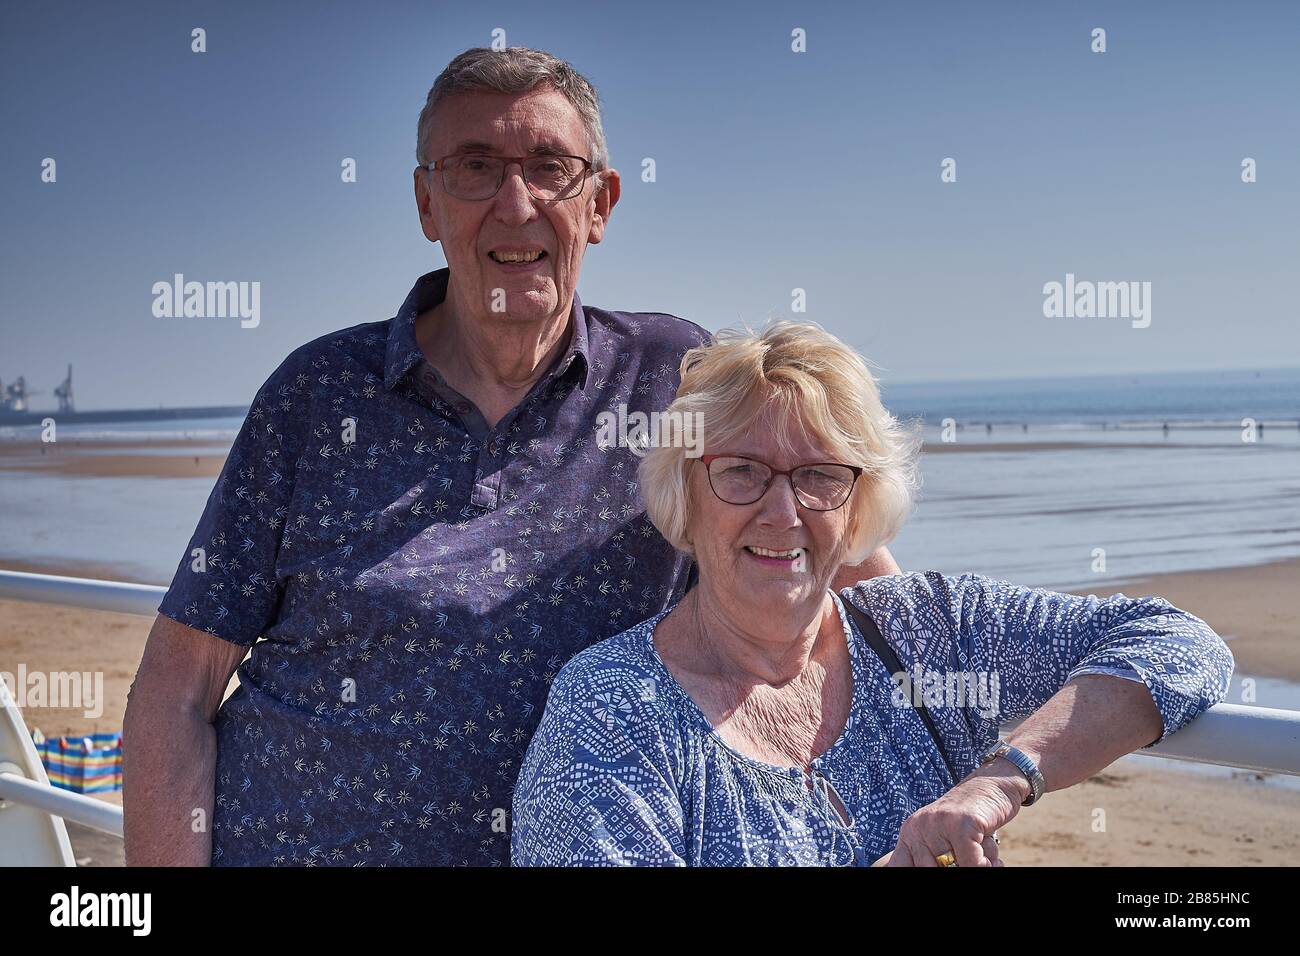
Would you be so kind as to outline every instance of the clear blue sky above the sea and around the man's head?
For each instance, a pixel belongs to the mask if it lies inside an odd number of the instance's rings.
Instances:
[[[391,316],[445,264],[416,117],[495,27],[601,92],[624,193],[589,304],[715,329],[800,286],[887,382],[1300,364],[1300,4],[55,3],[0,13],[0,380],[247,403]],[[261,325],[156,319],[177,272],[260,281]],[[1150,328],[1044,319],[1066,272],[1150,281]]]

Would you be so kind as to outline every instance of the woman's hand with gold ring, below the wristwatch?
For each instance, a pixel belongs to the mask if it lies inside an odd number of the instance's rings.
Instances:
[[[950,852],[958,866],[1002,866],[993,834],[1020,809],[1028,782],[1019,784],[998,763],[976,770],[935,803],[904,821],[898,845],[872,866],[939,866]],[[1014,770],[1013,773],[1019,773]]]

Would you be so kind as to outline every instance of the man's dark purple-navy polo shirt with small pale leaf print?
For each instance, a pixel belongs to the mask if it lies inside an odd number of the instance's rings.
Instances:
[[[416,345],[447,280],[272,373],[162,598],[251,645],[216,722],[216,865],[508,862],[551,678],[685,593],[597,416],[663,410],[707,333],[575,295],[567,351],[489,428]]]

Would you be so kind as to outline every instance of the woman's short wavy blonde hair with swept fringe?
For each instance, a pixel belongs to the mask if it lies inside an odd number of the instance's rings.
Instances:
[[[724,329],[681,360],[681,385],[663,420],[714,451],[731,450],[758,418],[776,410],[776,441],[820,444],[844,464],[863,468],[853,497],[845,563],[857,564],[893,540],[919,488],[919,428],[905,427],[880,402],[876,380],[853,349],[812,323],[772,323],[762,332]],[[689,416],[689,418],[688,418]],[[688,527],[686,436],[662,434],[641,462],[646,514],[676,549],[694,554]]]

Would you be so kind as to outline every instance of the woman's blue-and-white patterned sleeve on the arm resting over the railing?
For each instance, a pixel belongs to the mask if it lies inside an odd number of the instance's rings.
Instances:
[[[1232,653],[1209,624],[1164,598],[1082,597],[980,575],[942,585],[970,658],[998,678],[998,722],[1028,717],[1083,674],[1139,679],[1162,724],[1145,749],[1227,695]]]

